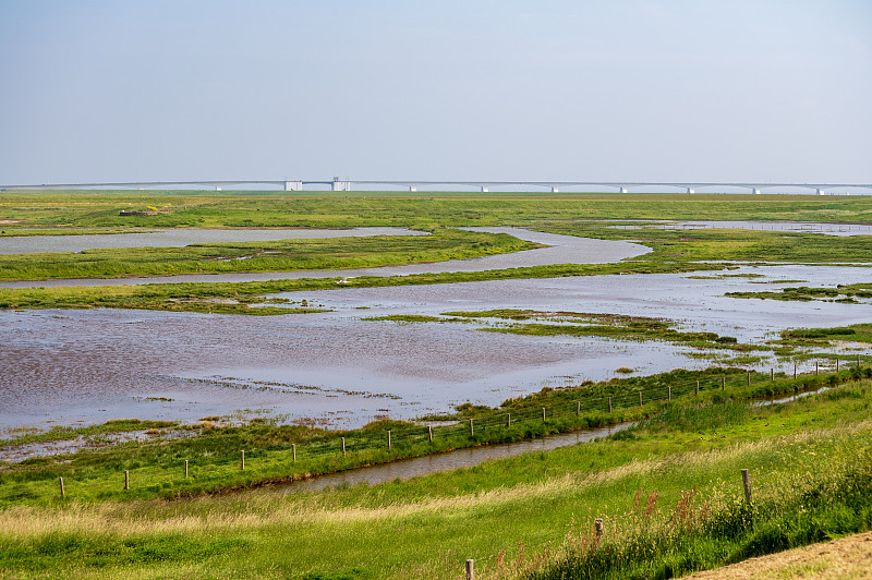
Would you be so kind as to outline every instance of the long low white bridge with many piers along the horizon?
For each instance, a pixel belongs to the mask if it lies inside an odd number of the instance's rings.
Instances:
[[[306,191],[306,185],[326,185],[331,191],[352,191],[354,185],[365,188],[389,186],[402,188],[414,191],[439,191],[443,188],[469,188],[472,191],[487,192],[492,189],[502,191],[517,191],[510,188],[541,188],[544,191],[559,192],[576,188],[608,188],[620,193],[630,190],[642,192],[652,188],[671,188],[682,193],[697,193],[698,190],[708,190],[717,193],[725,188],[748,190],[749,193],[760,194],[783,192],[784,190],[809,190],[818,195],[826,195],[833,190],[868,190],[872,193],[870,183],[760,183],[760,182],[654,182],[654,181],[379,181],[379,180],[343,180],[334,178],[329,180],[204,180],[204,181],[130,181],[107,183],[40,183],[24,185],[0,185],[0,190],[62,190],[62,189],[184,189],[184,188],[214,188],[216,191],[223,189],[243,189],[245,186],[269,186],[283,191]],[[704,193],[700,191],[700,193]]]

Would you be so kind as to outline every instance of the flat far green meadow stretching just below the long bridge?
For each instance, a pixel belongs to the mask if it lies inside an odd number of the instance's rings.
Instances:
[[[119,216],[147,206],[159,216]],[[554,219],[872,221],[870,196],[469,192],[22,191],[0,193],[17,227],[525,226]],[[11,228],[12,226],[7,226]],[[694,231],[692,234],[699,232]]]

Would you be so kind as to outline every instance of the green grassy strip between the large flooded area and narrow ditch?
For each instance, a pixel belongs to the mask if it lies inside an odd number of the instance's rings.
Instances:
[[[748,400],[804,391],[860,376],[856,368],[849,368],[827,377],[779,376],[771,380],[762,373],[710,368],[588,383],[578,388],[545,388],[535,395],[509,399],[499,409],[462,404],[455,414],[431,418],[457,422],[432,427],[432,440],[426,426],[390,420],[352,431],[271,425],[263,420],[231,427],[221,426],[220,418],[207,418],[202,424],[193,425],[124,420],[102,426],[58,427],[0,444],[14,446],[89,437],[89,443],[97,444],[97,448],[72,456],[31,458],[0,468],[0,504],[50,504],[58,495],[59,476],[64,478],[70,497],[86,502],[178,497],[258,486],[460,447],[635,421],[678,400],[699,404]],[[120,445],[100,439],[109,433],[146,428],[162,437]],[[390,448],[388,431],[392,435]],[[342,451],[343,440],[347,452]],[[100,443],[106,446],[100,447]],[[246,452],[244,471],[239,469],[241,449]],[[181,466],[185,460],[190,462],[190,478],[183,476]],[[134,482],[128,491],[118,484],[125,470]]]

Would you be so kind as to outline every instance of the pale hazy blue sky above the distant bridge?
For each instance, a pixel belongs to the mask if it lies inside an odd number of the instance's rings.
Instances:
[[[869,0],[0,0],[0,184],[872,183]]]

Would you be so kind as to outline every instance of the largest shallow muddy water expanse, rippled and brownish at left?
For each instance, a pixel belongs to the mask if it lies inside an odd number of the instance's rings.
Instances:
[[[763,277],[633,275],[337,289],[288,294],[334,312],[265,317],[4,311],[0,426],[192,421],[245,409],[354,426],[380,415],[445,411],[467,400],[497,404],[543,386],[609,378],[620,366],[642,374],[711,364],[690,358],[688,348],[658,342],[476,331],[487,323],[363,319],[385,314],[496,307],[633,314],[750,342],[788,327],[872,321],[872,304],[723,297],[796,285],[785,280],[868,281],[868,268],[767,266],[729,274]],[[172,400],[148,400],[161,397]]]

